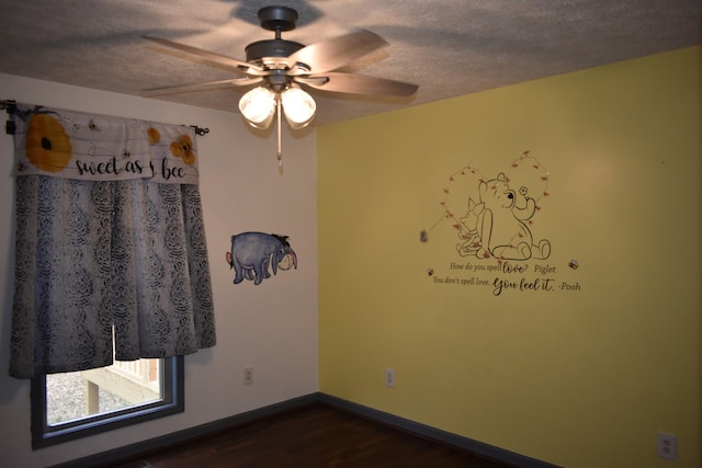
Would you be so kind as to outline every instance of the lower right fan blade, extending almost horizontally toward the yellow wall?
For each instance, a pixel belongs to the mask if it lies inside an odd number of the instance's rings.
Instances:
[[[294,80],[320,91],[365,95],[409,98],[419,89],[417,84],[401,81],[339,72],[295,77]]]

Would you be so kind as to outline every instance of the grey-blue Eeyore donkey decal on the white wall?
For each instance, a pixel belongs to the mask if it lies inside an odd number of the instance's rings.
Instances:
[[[270,278],[269,264],[273,274],[278,269],[297,269],[297,255],[287,241],[287,236],[264,232],[242,232],[231,236],[231,252],[227,252],[227,263],[236,272],[234,284],[245,278],[261,284]]]

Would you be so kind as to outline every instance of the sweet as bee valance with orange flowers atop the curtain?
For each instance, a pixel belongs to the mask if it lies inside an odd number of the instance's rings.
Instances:
[[[194,129],[18,103],[15,175],[197,184]]]

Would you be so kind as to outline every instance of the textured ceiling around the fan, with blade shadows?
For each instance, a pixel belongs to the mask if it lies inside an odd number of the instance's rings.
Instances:
[[[317,125],[702,43],[700,0],[0,0],[0,72],[136,95],[228,79],[141,36],[244,60],[247,44],[273,37],[257,18],[271,4],[299,12],[297,28],[283,33],[290,41],[356,28],[383,36],[389,47],[346,70],[420,87],[395,102],[316,94]],[[235,112],[240,95],[159,99]]]

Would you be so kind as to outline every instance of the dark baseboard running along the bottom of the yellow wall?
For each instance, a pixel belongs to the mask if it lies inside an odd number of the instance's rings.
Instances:
[[[503,448],[496,447],[494,445],[485,444],[483,442],[474,441],[472,438],[463,437],[451,432],[442,431],[437,427],[432,427],[426,424],[418,423],[405,418],[397,416],[395,414],[386,413],[370,407],[353,403],[351,401],[343,400],[341,398],[331,397],[326,393],[318,393],[317,401],[320,401],[330,407],[335,407],[382,424],[386,424],[398,430],[408,432],[410,434],[419,435],[422,437],[431,438],[442,444],[446,444],[453,447],[458,447],[482,457],[494,459],[496,461],[513,465],[520,468],[559,468],[557,465],[552,465],[546,461],[531,458],[524,455],[517,454],[514,452],[506,450]]]

